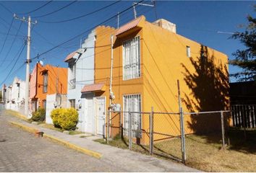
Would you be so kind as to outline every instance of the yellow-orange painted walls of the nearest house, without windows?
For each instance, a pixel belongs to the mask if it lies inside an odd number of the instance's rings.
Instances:
[[[135,32],[129,31],[129,34],[123,37],[114,37],[114,69],[113,69],[113,92],[116,99],[115,103],[121,104],[123,110],[123,95],[124,94],[141,94],[142,111],[150,112],[151,107],[157,112],[179,112],[177,79],[180,82],[182,94],[182,107],[185,112],[191,111],[207,111],[207,110],[224,110],[228,107],[229,97],[226,88],[222,89],[221,85],[228,87],[228,74],[224,71],[224,66],[227,65],[228,58],[225,54],[220,53],[211,48],[207,48],[208,55],[205,68],[202,66],[205,60],[199,61],[201,47],[199,43],[189,40],[186,37],[175,34],[161,27],[155,26],[150,22],[143,20],[140,22],[141,30]],[[106,96],[106,111],[109,105],[109,76],[111,67],[111,35],[114,35],[116,30],[111,27],[97,27],[95,41],[95,83],[105,82],[106,92],[97,93],[96,96]],[[122,79],[122,43],[125,40],[132,39],[140,35],[140,52],[141,52],[141,71],[142,76],[138,79],[124,81]],[[190,47],[191,58],[187,57],[186,46]],[[192,63],[195,63],[194,66]],[[210,64],[210,65],[209,65]],[[209,65],[209,66],[208,66]],[[221,68],[220,66],[223,66]],[[209,77],[216,77],[219,86],[210,86],[210,81],[207,75],[201,75],[203,69],[206,69],[205,74],[211,73],[213,68],[220,75],[211,74]],[[187,71],[186,71],[187,69]],[[221,72],[220,72],[221,71]],[[223,73],[222,73],[223,72]],[[222,75],[222,76],[221,76]],[[202,79],[200,78],[202,76]],[[223,79],[219,79],[223,77]],[[187,82],[186,82],[187,80]],[[190,81],[189,81],[190,80]],[[191,84],[190,84],[191,83]],[[217,89],[216,89],[217,87]],[[202,89],[203,92],[200,92]],[[219,90],[215,92],[213,90]],[[225,91],[223,91],[225,90]],[[210,93],[210,94],[209,94]],[[218,99],[217,94],[223,95],[225,99],[224,105],[218,105],[215,99]],[[195,102],[195,105],[186,102]],[[209,104],[205,104],[209,102]],[[221,101],[220,101],[221,102]],[[206,107],[205,105],[208,105]],[[114,114],[112,114],[114,117]],[[209,118],[210,120],[210,118]],[[213,118],[212,122],[218,118]],[[190,115],[185,116],[185,124],[187,126],[186,133],[194,133],[196,130],[189,127],[189,123],[195,123],[195,120]],[[148,131],[149,127],[148,115],[142,115],[142,129]],[[207,122],[204,122],[207,123]],[[111,137],[119,133],[119,115],[111,120]],[[214,123],[212,123],[214,126]],[[158,115],[154,116],[154,130],[159,133],[167,133],[169,135],[179,135],[179,115]],[[165,136],[166,137],[166,136]],[[163,138],[161,135],[155,135],[155,139]],[[146,134],[142,135],[142,143],[148,143]]]

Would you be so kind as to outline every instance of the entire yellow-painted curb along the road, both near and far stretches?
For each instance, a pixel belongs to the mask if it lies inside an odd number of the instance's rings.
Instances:
[[[31,128],[31,127],[28,127],[27,125],[22,125],[21,123],[16,123],[16,122],[13,122],[13,121],[9,121],[9,123],[11,125],[14,125],[17,128],[21,128],[22,130],[26,130],[27,132],[30,132],[30,133],[38,133],[39,132],[39,130],[37,128]],[[54,141],[54,142],[57,142],[57,143],[61,143],[64,146],[67,146],[68,148],[72,148],[72,149],[74,149],[76,151],[82,152],[83,154],[87,154],[89,156],[93,156],[96,159],[101,159],[101,157],[102,157],[102,154],[100,154],[100,153],[98,153],[96,151],[92,151],[92,150],[89,150],[89,149],[86,149],[86,148],[82,148],[80,146],[76,146],[76,145],[74,145],[72,143],[69,143],[69,142],[64,141],[62,139],[59,139],[59,138],[56,138],[54,136],[50,136],[50,135],[48,135],[46,133],[43,133],[43,138],[48,138],[51,141]]]

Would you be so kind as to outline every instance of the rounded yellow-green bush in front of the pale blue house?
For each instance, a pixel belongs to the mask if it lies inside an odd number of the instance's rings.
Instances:
[[[58,108],[51,112],[51,118],[56,127],[74,130],[78,122],[78,112],[74,108]]]

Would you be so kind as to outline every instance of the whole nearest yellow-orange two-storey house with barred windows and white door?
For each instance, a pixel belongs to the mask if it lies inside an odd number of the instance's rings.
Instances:
[[[119,29],[95,28],[94,84],[85,84],[82,98],[87,100],[85,110],[90,110],[93,133],[106,123],[109,106],[111,74],[111,35],[113,46],[114,103],[122,111],[179,112],[177,84],[179,79],[182,107],[185,112],[229,109],[228,57],[212,48],[201,45],[176,33],[176,25],[165,19],[148,22],[144,16],[132,20]],[[90,102],[90,104],[88,104]],[[110,116],[111,137],[123,127],[127,136],[128,113]],[[103,118],[102,118],[103,117]],[[185,117],[186,133],[196,132],[192,116]],[[215,123],[209,119],[208,127]],[[87,124],[85,124],[87,125]],[[132,136],[148,143],[149,116],[132,115]],[[169,136],[180,134],[177,115],[155,116],[154,130]],[[155,135],[158,140],[164,136]]]

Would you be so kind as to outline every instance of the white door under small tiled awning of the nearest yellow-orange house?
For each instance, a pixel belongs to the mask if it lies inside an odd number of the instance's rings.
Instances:
[[[95,97],[96,135],[103,136],[105,127],[105,97]]]

